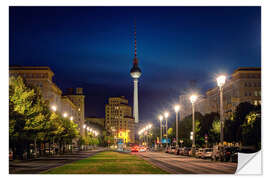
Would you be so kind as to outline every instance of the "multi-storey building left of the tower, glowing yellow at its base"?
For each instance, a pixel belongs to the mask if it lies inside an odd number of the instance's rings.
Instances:
[[[111,97],[105,107],[105,128],[113,133],[115,138],[122,138],[124,142],[134,143],[135,121],[132,108],[124,96]]]

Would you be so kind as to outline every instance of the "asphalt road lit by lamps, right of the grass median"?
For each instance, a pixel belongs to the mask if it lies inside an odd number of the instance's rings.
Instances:
[[[237,163],[167,154],[164,152],[132,153],[172,174],[234,174]]]

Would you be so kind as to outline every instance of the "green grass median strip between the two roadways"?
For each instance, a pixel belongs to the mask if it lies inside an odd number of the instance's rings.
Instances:
[[[168,174],[158,167],[131,154],[101,152],[61,167],[46,171],[45,174]]]

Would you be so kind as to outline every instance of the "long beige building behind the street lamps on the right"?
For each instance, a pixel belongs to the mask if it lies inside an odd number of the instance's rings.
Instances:
[[[192,113],[188,98],[188,95],[179,96],[181,119]],[[219,101],[219,89],[216,86],[206,91],[205,97],[198,99],[195,103],[195,111],[202,114],[219,113]],[[240,67],[226,80],[223,89],[224,117],[232,116],[236,107],[242,102],[249,102],[254,105],[261,104],[261,68]]]

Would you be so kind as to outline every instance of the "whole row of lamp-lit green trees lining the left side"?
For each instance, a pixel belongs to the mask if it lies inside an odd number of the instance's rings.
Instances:
[[[71,142],[78,136],[77,125],[51,112],[38,88],[18,76],[9,79],[9,140],[14,158],[29,155],[30,144],[58,140]],[[61,143],[62,143],[61,142]]]

